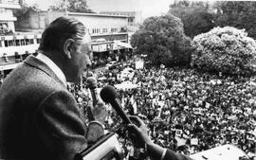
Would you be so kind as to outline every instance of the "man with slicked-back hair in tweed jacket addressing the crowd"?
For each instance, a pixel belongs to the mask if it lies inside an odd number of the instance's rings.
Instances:
[[[103,134],[105,106],[85,125],[66,81],[80,82],[91,39],[81,22],[60,17],[46,28],[39,54],[15,68],[0,89],[0,159],[70,160]]]

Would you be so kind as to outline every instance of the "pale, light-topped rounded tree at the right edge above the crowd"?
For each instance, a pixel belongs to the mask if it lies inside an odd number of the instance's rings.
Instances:
[[[205,71],[233,75],[255,72],[251,61],[256,58],[256,43],[244,29],[214,27],[192,40],[192,66]]]

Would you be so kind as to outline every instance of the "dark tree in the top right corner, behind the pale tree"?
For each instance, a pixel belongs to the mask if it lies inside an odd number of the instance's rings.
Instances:
[[[214,21],[219,27],[245,28],[248,36],[256,39],[256,2],[224,1],[214,5]]]

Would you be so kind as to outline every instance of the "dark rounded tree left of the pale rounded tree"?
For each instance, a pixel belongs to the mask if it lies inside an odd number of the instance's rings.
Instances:
[[[191,39],[186,37],[183,25],[172,14],[150,17],[132,36],[131,44],[137,54],[148,55],[156,65],[188,64]]]

